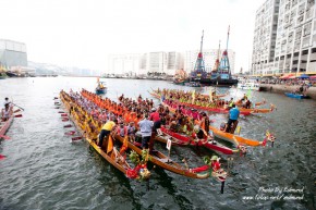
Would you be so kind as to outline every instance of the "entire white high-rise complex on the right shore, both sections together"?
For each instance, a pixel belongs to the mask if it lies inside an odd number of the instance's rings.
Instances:
[[[252,73],[316,73],[315,16],[315,0],[267,0],[256,14]]]

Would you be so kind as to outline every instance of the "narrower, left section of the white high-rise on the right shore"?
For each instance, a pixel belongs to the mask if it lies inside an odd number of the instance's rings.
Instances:
[[[266,74],[274,65],[279,2],[280,0],[267,0],[256,12],[253,74]]]

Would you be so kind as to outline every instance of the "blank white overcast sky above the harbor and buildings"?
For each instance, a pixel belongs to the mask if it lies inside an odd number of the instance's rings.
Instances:
[[[251,62],[264,0],[1,0],[0,39],[26,44],[29,61],[107,71],[110,53],[226,46],[235,70]]]

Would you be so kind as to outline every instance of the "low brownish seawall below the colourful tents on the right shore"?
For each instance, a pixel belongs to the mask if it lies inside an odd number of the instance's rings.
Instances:
[[[284,94],[284,92],[292,92],[295,89],[297,89],[300,86],[287,86],[287,85],[275,85],[275,84],[260,84],[260,90],[263,91],[270,91],[270,92],[278,92],[278,94]],[[307,89],[307,96],[312,99],[316,100],[316,87],[309,87]]]

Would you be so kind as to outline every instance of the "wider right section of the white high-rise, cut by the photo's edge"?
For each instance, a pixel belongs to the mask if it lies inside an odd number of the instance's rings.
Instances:
[[[280,0],[277,73],[316,73],[315,13],[315,0]]]

